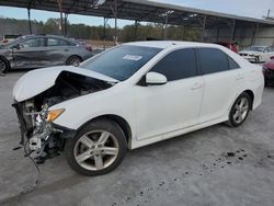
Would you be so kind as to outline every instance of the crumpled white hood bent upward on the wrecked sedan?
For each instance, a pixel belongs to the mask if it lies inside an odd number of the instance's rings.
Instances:
[[[70,71],[107,82],[118,82],[111,77],[73,66],[49,67],[28,71],[22,76],[13,88],[13,99],[22,102],[44,92],[55,84],[56,79],[62,71]]]

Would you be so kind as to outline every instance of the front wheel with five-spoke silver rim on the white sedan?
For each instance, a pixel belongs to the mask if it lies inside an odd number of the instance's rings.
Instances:
[[[119,165],[127,150],[126,137],[113,121],[99,119],[82,127],[65,146],[68,164],[83,175],[101,175]]]

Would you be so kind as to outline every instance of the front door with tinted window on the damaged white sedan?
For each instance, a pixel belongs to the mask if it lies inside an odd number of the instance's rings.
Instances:
[[[171,52],[150,71],[162,73],[163,85],[136,85],[137,139],[142,140],[197,124],[203,78],[197,76],[193,48]]]

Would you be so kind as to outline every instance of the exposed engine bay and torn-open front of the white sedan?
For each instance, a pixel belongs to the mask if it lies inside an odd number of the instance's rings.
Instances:
[[[45,159],[58,154],[58,151],[64,149],[66,138],[69,138],[66,128],[58,128],[49,119],[50,106],[109,89],[113,84],[92,77],[62,71],[52,88],[32,99],[15,102],[13,106],[19,116],[21,145],[27,147],[30,157],[42,163]]]

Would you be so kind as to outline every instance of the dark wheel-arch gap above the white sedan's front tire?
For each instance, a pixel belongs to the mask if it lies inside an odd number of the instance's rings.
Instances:
[[[94,121],[98,121],[98,119],[110,119],[110,121],[115,122],[122,128],[122,130],[124,131],[124,134],[126,136],[127,147],[128,147],[128,149],[130,149],[132,137],[133,137],[132,128],[130,128],[128,122],[125,118],[123,118],[122,116],[118,116],[118,115],[115,115],[115,114],[100,115],[100,116],[93,117],[92,119],[90,119],[87,123],[84,123],[82,126],[80,126],[78,128],[78,130],[80,130],[87,124],[89,124],[91,122],[94,122]]]

